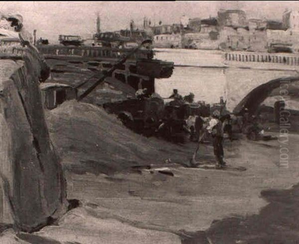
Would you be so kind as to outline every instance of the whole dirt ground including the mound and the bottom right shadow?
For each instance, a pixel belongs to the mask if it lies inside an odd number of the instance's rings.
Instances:
[[[66,102],[48,111],[47,122],[68,199],[80,205],[39,232],[8,229],[0,243],[299,243],[296,134],[284,145],[288,168],[278,140],[226,140],[226,162],[247,169],[231,171],[185,167],[195,143],[144,138],[90,104]],[[197,161],[212,162],[212,152],[201,145]]]

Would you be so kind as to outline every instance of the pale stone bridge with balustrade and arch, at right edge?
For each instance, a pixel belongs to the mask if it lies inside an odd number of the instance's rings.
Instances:
[[[299,55],[236,52],[224,59],[227,106],[235,112],[254,112],[274,89],[299,80]]]

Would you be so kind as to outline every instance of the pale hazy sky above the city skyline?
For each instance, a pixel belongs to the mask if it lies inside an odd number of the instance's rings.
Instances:
[[[19,13],[24,26],[37,37],[58,41],[59,34],[91,37],[96,31],[97,14],[102,31],[129,27],[131,19],[142,24],[179,23],[180,17],[207,18],[224,9],[242,9],[247,18],[282,20],[286,9],[299,10],[299,1],[0,1],[0,13]]]

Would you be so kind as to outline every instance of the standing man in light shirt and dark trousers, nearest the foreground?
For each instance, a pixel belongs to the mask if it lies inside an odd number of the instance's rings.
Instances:
[[[223,128],[220,121],[220,111],[215,110],[212,114],[212,119],[209,122],[207,131],[212,135],[214,155],[217,161],[217,167],[224,167],[225,162],[223,161]]]

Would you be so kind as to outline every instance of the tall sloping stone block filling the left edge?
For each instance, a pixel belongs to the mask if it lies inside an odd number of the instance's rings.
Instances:
[[[1,51],[1,50],[0,50]],[[66,185],[41,102],[40,62],[0,57],[0,222],[31,232],[66,211]]]

